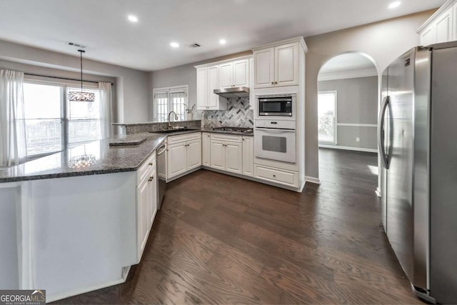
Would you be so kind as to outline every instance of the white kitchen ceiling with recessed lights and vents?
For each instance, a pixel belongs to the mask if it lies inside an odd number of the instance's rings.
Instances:
[[[444,2],[402,0],[388,9],[389,0],[0,0],[0,39],[78,56],[72,41],[87,46],[85,58],[154,71]],[[181,46],[173,49],[171,41]],[[201,47],[187,46],[194,42]]]

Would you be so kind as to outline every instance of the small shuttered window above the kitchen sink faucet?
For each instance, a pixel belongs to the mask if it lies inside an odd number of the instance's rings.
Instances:
[[[154,121],[168,121],[170,111],[176,112],[179,121],[186,119],[189,86],[154,89]]]

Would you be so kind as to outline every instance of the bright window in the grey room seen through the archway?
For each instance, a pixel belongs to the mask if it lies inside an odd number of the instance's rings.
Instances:
[[[318,93],[318,141],[336,144],[336,91]]]

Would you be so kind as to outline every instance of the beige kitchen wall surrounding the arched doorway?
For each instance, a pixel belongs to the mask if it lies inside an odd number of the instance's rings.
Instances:
[[[398,56],[419,44],[416,33],[435,10],[306,37],[306,176],[318,178],[317,76],[333,56],[362,51],[376,61],[378,73]]]

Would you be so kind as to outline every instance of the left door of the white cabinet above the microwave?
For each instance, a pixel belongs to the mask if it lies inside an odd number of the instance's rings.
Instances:
[[[274,86],[274,48],[254,52],[254,87]]]

